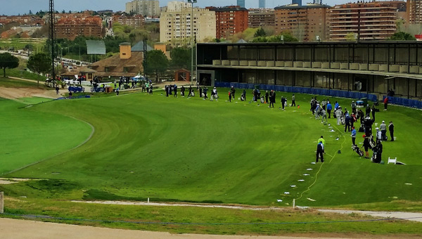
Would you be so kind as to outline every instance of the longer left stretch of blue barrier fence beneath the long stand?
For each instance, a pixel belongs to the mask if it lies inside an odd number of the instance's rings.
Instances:
[[[260,90],[274,90],[274,91],[285,91],[292,93],[309,93],[311,95],[321,95],[321,96],[333,96],[333,97],[343,97],[343,98],[368,98],[369,101],[378,101],[377,96],[371,93],[361,93],[354,91],[339,91],[332,89],[319,89],[319,88],[308,88],[308,87],[299,87],[299,86],[276,86],[271,84],[247,84],[247,83],[231,83],[231,82],[215,82],[217,87],[227,87],[238,89],[255,89],[255,86],[258,86]]]

